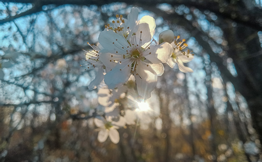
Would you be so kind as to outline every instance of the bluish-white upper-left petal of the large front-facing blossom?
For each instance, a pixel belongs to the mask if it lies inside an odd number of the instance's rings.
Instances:
[[[127,47],[129,44],[126,42],[126,39],[119,34],[109,31],[102,31],[98,37],[99,43],[103,46],[102,53],[113,53],[118,55],[125,55],[126,51],[122,47]]]

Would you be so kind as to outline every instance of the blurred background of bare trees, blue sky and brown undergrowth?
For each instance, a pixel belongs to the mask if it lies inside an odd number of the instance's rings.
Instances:
[[[194,72],[165,66],[160,116],[99,143],[82,49],[134,6],[155,18],[154,39],[187,40]],[[261,162],[261,0],[2,1],[0,48],[0,161]]]

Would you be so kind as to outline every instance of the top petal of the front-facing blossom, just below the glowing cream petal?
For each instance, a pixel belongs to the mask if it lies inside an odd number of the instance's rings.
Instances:
[[[142,33],[141,33],[142,31]],[[141,36],[141,40],[140,41],[140,36]],[[153,37],[153,35],[151,35],[150,31],[149,31],[149,25],[148,23],[139,23],[139,28],[136,32],[136,36],[132,36],[133,38],[136,38],[136,42],[131,42],[132,43],[136,43],[137,45],[139,45],[140,47],[148,45]]]

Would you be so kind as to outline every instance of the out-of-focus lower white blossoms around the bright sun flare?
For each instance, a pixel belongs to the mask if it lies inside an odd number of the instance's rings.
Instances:
[[[98,127],[98,141],[104,142],[109,136],[113,143],[119,142],[117,129],[134,125],[139,121],[141,128],[148,128],[149,123],[160,114],[159,99],[155,93],[146,101],[139,97],[134,77],[113,90],[104,86],[98,90],[98,103],[105,107],[104,117],[94,119]]]

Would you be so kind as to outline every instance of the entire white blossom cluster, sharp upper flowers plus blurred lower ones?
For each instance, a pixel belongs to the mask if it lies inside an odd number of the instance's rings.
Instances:
[[[98,94],[106,94],[98,98],[98,101],[106,107],[105,113],[113,112],[119,106],[124,110],[117,112],[114,117],[107,115],[104,119],[95,119],[95,124],[101,129],[98,135],[99,142],[104,142],[108,136],[114,143],[119,141],[116,130],[119,126],[113,124],[115,118],[123,118],[124,125],[133,124],[136,118],[147,119],[145,115],[139,117],[135,112],[138,111],[141,116],[141,112],[148,112],[149,108],[132,109],[130,105],[149,107],[146,100],[151,97],[157,77],[164,73],[163,63],[167,63],[171,68],[177,63],[182,72],[193,72],[184,66],[184,63],[193,59],[192,51],[185,49],[187,44],[184,43],[184,39],[179,41],[179,36],[175,37],[171,30],[166,30],[159,35],[159,42],[156,42],[152,40],[155,30],[154,18],[144,16],[141,20],[137,19],[138,8],[132,8],[127,19],[122,15],[116,15],[116,20],[105,25],[105,30],[100,33],[100,44],[97,46],[88,43],[93,50],[86,51],[87,65],[82,66],[86,66],[85,69],[97,69],[97,75],[88,88],[95,89],[104,80],[109,89],[99,90]],[[127,86],[129,78],[135,80],[135,88],[132,90]],[[129,101],[132,101],[131,104]]]

